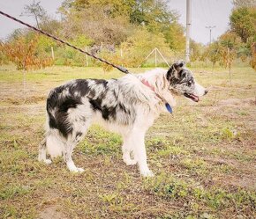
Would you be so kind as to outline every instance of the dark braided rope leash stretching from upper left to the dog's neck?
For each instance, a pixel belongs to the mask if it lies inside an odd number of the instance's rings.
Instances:
[[[128,69],[125,69],[125,68],[122,67],[122,66],[115,65],[115,64],[113,64],[113,63],[108,62],[107,60],[104,60],[104,59],[102,59],[102,58],[100,58],[100,57],[97,57],[97,56],[95,56],[95,55],[93,55],[93,54],[90,54],[90,53],[88,53],[87,51],[85,51],[85,50],[83,50],[83,49],[81,49],[81,48],[79,48],[79,47],[73,46],[73,45],[70,44],[69,42],[66,42],[66,41],[64,41],[64,40],[61,40],[61,39],[57,38],[56,36],[53,36],[53,35],[51,35],[51,34],[49,34],[49,33],[46,33],[46,32],[44,32],[44,31],[42,31],[42,30],[40,30],[40,29],[37,29],[37,28],[34,27],[34,26],[30,26],[30,25],[26,24],[25,22],[19,20],[18,18],[13,18],[11,15],[6,14],[6,13],[4,13],[3,11],[0,11],[0,14],[4,15],[4,16],[7,17],[7,18],[11,18],[11,19],[14,20],[14,21],[17,21],[17,22],[18,22],[19,24],[21,24],[21,25],[24,25],[24,26],[27,26],[27,27],[29,27],[29,28],[32,28],[34,31],[36,31],[36,32],[38,32],[38,33],[41,33],[41,34],[43,34],[43,35],[46,35],[46,36],[48,36],[48,37],[51,38],[51,39],[54,39],[54,40],[56,40],[56,41],[59,41],[59,42],[63,43],[64,45],[68,46],[68,47],[72,47],[72,48],[74,48],[74,49],[76,49],[76,50],[79,50],[79,52],[81,52],[81,53],[83,53],[83,54],[86,54],[86,55],[89,55],[89,56],[93,57],[94,59],[99,60],[99,61],[101,61],[101,62],[104,62],[104,63],[106,63],[106,64],[112,66],[113,68],[116,68],[116,69],[118,69],[118,70],[124,72],[125,74],[129,74],[129,73],[130,73],[130,72],[128,71]]]

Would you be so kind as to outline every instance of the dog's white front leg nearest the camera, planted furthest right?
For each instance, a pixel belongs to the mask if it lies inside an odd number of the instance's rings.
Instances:
[[[147,153],[144,142],[145,132],[142,132],[138,128],[132,130],[130,135],[130,142],[132,143],[132,150],[134,153],[134,159],[139,164],[139,172],[143,177],[153,177],[154,173],[151,172],[147,166]]]

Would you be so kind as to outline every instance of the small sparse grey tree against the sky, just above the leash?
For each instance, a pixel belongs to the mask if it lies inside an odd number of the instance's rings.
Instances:
[[[43,7],[40,5],[40,3],[41,2],[35,2],[34,0],[32,4],[26,4],[24,7],[24,12],[21,13],[21,16],[34,17],[36,21],[36,26],[38,28],[40,28],[39,21],[47,17],[47,13],[43,9]]]

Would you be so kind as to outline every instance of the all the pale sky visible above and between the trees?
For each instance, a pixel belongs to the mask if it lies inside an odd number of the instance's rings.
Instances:
[[[63,0],[41,0],[41,6],[52,18],[59,18],[57,8]],[[206,26],[216,26],[212,31],[212,40],[216,40],[229,29],[229,16],[232,10],[231,0],[192,0],[192,30],[191,38],[197,42],[209,42],[209,29]],[[24,6],[33,3],[33,0],[0,0],[0,11],[19,18],[30,25],[35,25],[34,18],[20,17]],[[186,0],[169,0],[169,8],[176,10],[179,22],[185,26]],[[9,18],[0,15],[0,40],[4,40],[15,29],[23,27]]]

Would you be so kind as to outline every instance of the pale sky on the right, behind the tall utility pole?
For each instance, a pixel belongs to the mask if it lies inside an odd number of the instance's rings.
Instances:
[[[210,32],[206,26],[216,26],[212,30],[212,40],[225,33],[229,28],[230,13],[233,8],[231,0],[191,0],[192,28],[191,38],[197,42],[207,44]],[[186,24],[186,0],[170,0],[170,9],[180,14],[179,21]]]

